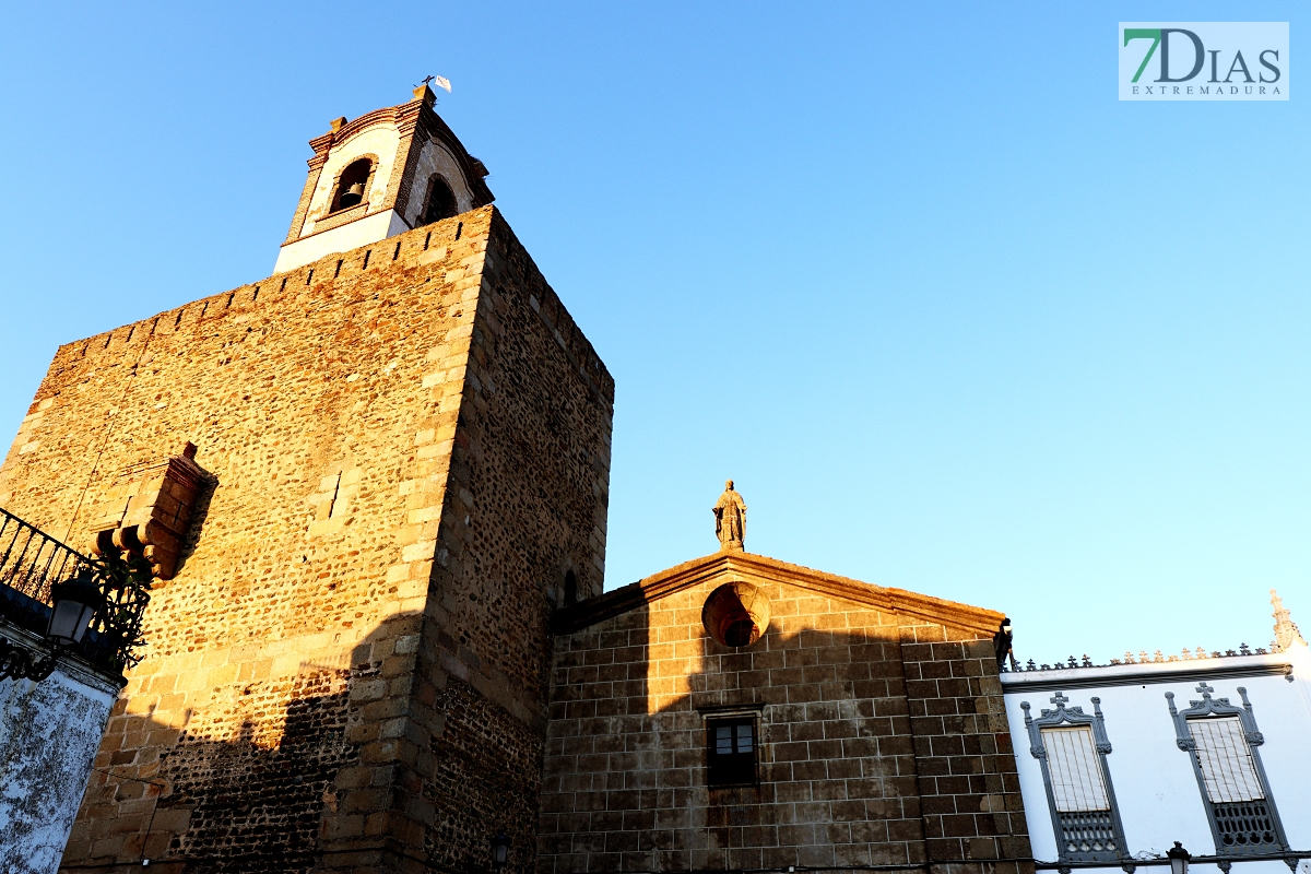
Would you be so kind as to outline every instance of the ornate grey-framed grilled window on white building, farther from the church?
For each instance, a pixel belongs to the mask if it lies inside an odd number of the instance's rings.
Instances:
[[[1215,689],[1206,683],[1197,691],[1201,700],[1189,701],[1185,710],[1175,708],[1173,692],[1167,692],[1165,700],[1175,719],[1175,743],[1193,761],[1217,856],[1287,852],[1289,841],[1257,751],[1265,739],[1256,727],[1247,689],[1238,688],[1242,708],[1228,698],[1213,698]]]

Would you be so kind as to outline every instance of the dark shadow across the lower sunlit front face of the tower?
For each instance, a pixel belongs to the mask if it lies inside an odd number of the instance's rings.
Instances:
[[[350,692],[379,674],[374,643],[396,633],[375,629],[349,667],[303,663],[215,689],[203,713],[134,714],[121,700],[60,870],[138,870],[149,858],[164,874],[308,871],[323,815],[337,810],[337,774],[359,757]]]

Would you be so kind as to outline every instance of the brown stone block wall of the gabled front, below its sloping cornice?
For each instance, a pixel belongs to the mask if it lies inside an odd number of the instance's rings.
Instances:
[[[982,768],[965,750],[982,743],[981,732],[1004,735],[1006,727],[916,722],[944,705],[923,683],[907,694],[905,617],[753,579],[770,599],[772,621],[759,641],[733,650],[701,625],[701,605],[725,582],[688,587],[557,639],[538,844],[543,873],[859,870],[929,860],[978,860],[964,869],[974,871],[1015,869],[987,867],[1006,858],[995,844],[969,844],[953,856],[936,841],[944,799],[986,797],[1015,808],[1019,790],[1012,763],[1008,786],[995,794],[982,789],[981,776],[979,786],[940,781],[922,799],[928,784],[920,761],[935,774],[940,763],[916,755],[919,732],[940,735],[932,744],[950,736],[950,750],[935,747],[947,769],[974,774]],[[941,671],[940,662],[948,675],[978,667],[960,645],[950,653],[915,649],[916,634],[935,633],[939,641],[960,637],[943,626],[911,629],[916,679]],[[953,713],[965,706],[947,701]],[[705,718],[734,705],[759,712],[759,785],[712,789]],[[975,698],[969,706],[986,710]],[[990,761],[995,770],[1006,770],[1000,759]],[[1027,857],[1023,816],[988,818],[970,836],[994,839],[1003,826],[1013,829],[1009,858]],[[947,833],[964,835],[964,823],[950,820]]]

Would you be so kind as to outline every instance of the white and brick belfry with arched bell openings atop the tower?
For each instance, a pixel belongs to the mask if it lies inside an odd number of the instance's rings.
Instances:
[[[492,203],[486,168],[435,102],[420,85],[408,104],[337,118],[309,140],[315,155],[275,274]]]

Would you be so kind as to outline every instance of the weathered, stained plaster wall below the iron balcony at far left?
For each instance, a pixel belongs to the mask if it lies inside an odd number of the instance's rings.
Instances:
[[[117,697],[55,671],[0,681],[0,858],[7,874],[54,874]]]

